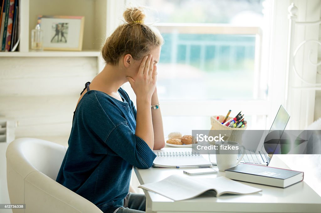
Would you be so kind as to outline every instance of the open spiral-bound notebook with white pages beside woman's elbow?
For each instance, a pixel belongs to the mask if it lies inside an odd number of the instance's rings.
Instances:
[[[154,151],[157,155],[153,167],[177,168],[177,166],[212,166],[201,154],[192,148],[162,148]]]

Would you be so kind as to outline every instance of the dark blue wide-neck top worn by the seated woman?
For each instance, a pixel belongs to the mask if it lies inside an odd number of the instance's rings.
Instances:
[[[124,102],[101,91],[83,95],[56,179],[103,212],[123,206],[133,166],[147,169],[156,157],[135,135],[133,102],[123,89],[118,91]]]

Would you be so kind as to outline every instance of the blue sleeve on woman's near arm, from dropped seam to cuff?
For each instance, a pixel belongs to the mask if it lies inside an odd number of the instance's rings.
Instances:
[[[156,154],[147,143],[129,128],[126,123],[116,126],[105,139],[106,145],[131,165],[148,169]]]

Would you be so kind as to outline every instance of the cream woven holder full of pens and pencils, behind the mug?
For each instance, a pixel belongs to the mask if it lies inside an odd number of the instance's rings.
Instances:
[[[219,120],[216,119],[216,117],[219,116]],[[222,124],[225,116],[224,115],[214,115],[211,116],[211,130],[217,130],[219,134],[228,137],[227,140],[229,141],[235,141],[238,142],[239,144],[242,144],[242,134],[244,131],[240,130],[246,130],[247,125],[242,127],[242,128],[232,128],[228,127]],[[228,117],[227,121],[232,119],[233,117]],[[220,131],[222,130],[222,131]],[[229,130],[229,131],[227,131]],[[216,133],[217,133],[216,131]]]

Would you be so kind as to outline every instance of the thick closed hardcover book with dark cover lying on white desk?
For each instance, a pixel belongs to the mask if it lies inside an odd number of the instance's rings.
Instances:
[[[225,170],[225,177],[249,183],[285,188],[302,181],[304,173],[243,163]]]

